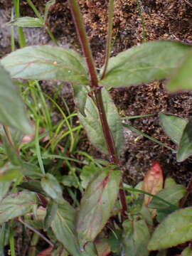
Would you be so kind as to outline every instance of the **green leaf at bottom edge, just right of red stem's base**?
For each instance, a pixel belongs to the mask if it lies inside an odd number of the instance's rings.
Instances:
[[[125,220],[123,223],[123,252],[129,256],[147,256],[150,239],[149,230],[144,220]]]

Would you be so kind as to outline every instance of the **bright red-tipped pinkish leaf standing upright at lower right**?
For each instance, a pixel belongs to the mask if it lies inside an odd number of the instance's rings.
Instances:
[[[161,166],[158,161],[154,161],[149,171],[144,177],[142,190],[152,195],[156,195],[163,188],[164,177]],[[151,196],[144,196],[144,205],[148,206],[151,201]]]

